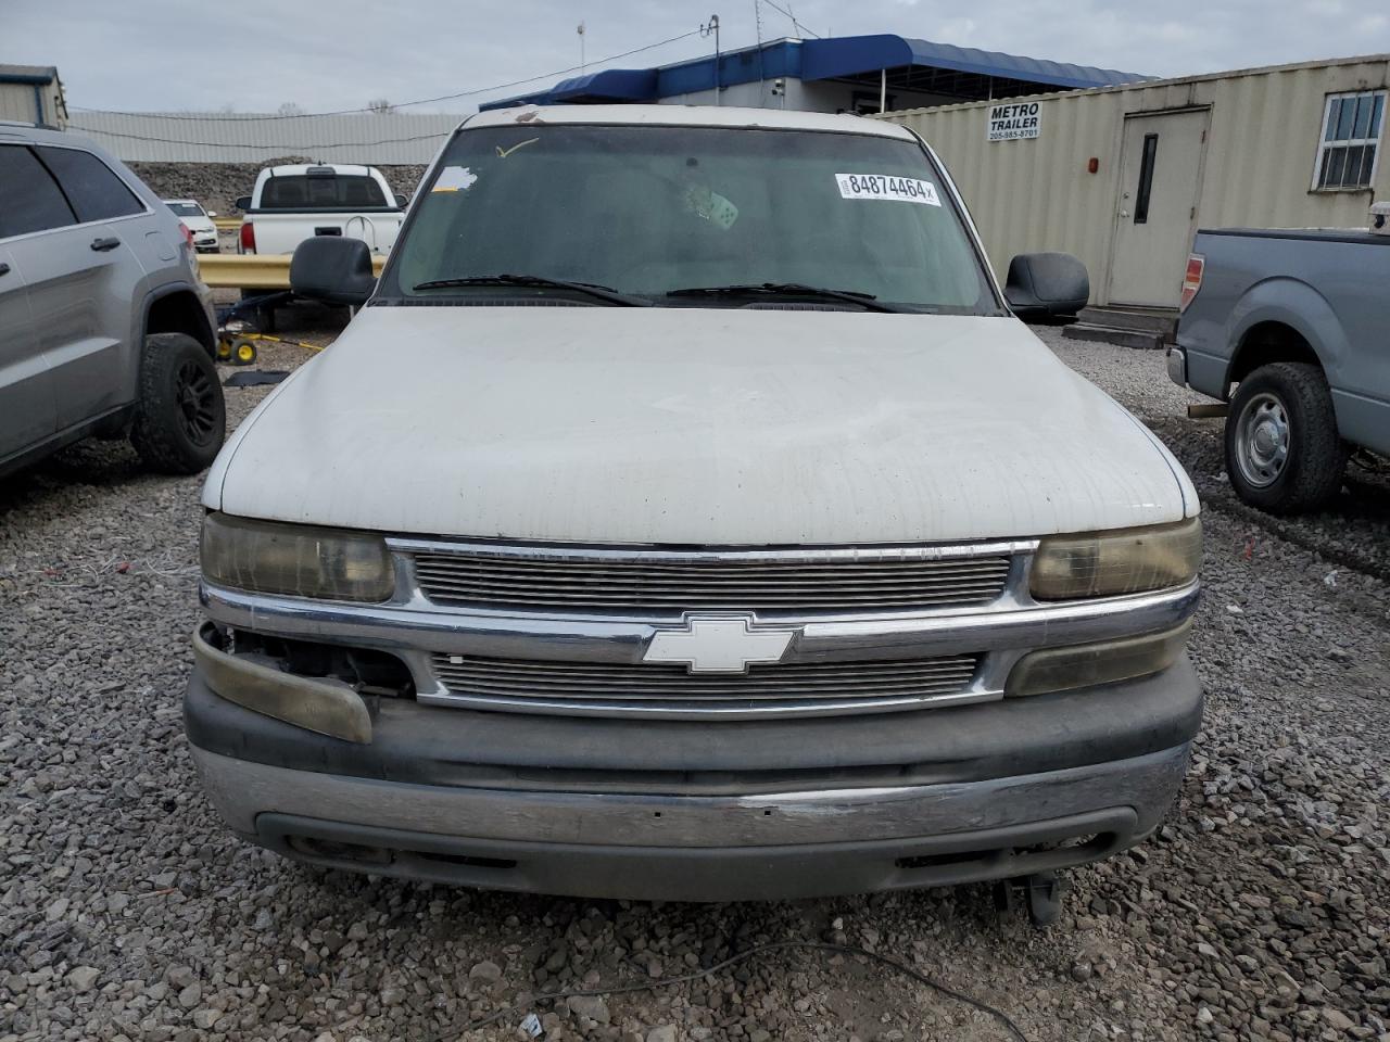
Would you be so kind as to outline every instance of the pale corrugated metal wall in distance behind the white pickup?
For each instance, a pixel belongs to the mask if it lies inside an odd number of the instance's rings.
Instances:
[[[75,111],[68,129],[135,163],[259,163],[306,156],[322,163],[421,164],[463,122],[463,115],[353,113],[256,117],[158,115]]]

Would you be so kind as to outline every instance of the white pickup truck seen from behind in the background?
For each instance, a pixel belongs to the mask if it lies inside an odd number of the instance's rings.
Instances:
[[[239,253],[293,253],[316,235],[361,239],[386,253],[406,217],[406,200],[379,169],[342,164],[267,167],[236,207],[246,214]]]

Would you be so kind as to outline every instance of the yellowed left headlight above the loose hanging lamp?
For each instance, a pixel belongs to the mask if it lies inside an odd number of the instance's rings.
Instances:
[[[386,600],[396,585],[379,535],[227,514],[203,520],[203,577],[220,586],[320,600]]]

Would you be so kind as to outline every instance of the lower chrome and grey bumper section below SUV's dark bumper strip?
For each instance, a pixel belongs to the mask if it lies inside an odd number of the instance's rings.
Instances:
[[[979,781],[752,795],[413,784],[192,752],[227,822],[296,860],[485,889],[766,900],[1106,857],[1156,828],[1188,743]]]

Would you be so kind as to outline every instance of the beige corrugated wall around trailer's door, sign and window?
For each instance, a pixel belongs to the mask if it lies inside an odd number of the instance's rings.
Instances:
[[[987,101],[884,118],[917,131],[945,161],[1001,276],[1019,253],[1073,253],[1091,272],[1093,300],[1105,303],[1126,115],[1211,108],[1204,228],[1361,228],[1390,185],[1390,164],[1379,164],[1372,192],[1311,192],[1323,106],[1329,93],[1380,89],[1387,79],[1390,56],[1376,56],[1044,94],[1040,136],[1015,142],[986,140]],[[1091,157],[1097,174],[1087,172]]]

